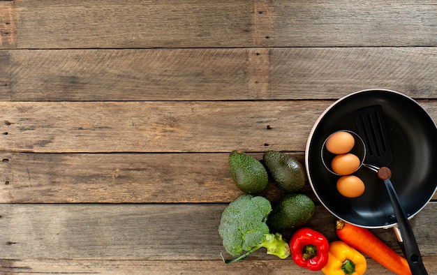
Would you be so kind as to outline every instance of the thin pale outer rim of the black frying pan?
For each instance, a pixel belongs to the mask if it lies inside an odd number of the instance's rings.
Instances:
[[[345,101],[346,98],[350,98],[352,96],[355,96],[356,94],[362,94],[363,92],[369,92],[369,91],[382,91],[382,92],[388,92],[388,93],[392,93],[392,94],[396,94],[398,96],[402,96],[403,98],[408,99],[408,101],[410,101],[411,103],[414,103],[415,105],[417,105],[418,107],[420,107],[420,109],[422,109],[428,116],[428,112],[426,110],[424,110],[424,108],[417,103],[417,101],[415,101],[413,98],[411,98],[410,96],[406,96],[406,94],[402,94],[399,91],[394,91],[391,89],[381,89],[381,88],[372,88],[372,89],[362,89],[360,91],[355,91],[351,94],[348,94],[346,96],[343,96],[341,98],[339,98],[338,100],[334,101],[334,103],[332,103],[331,105],[329,105],[318,117],[318,119],[316,120],[316,122],[314,123],[313,127],[311,128],[311,131],[309,133],[309,138],[306,141],[306,149],[305,149],[305,166],[306,166],[306,174],[309,180],[309,184],[311,186],[311,189],[313,190],[313,193],[316,195],[316,197],[318,198],[318,200],[320,201],[320,203],[323,205],[323,207],[325,207],[325,209],[327,209],[331,214],[333,214],[334,216],[336,216],[336,218],[339,218],[343,221],[346,221],[346,219],[342,218],[341,216],[339,216],[338,214],[334,213],[334,211],[332,209],[330,209],[330,207],[328,205],[326,205],[326,203],[324,202],[324,200],[322,200],[320,198],[320,195],[318,194],[318,192],[316,192],[316,188],[313,184],[313,177],[311,177],[311,172],[310,172],[310,162],[309,162],[309,149],[311,147],[311,144],[313,142],[313,136],[314,133],[316,132],[316,130],[318,129],[318,126],[320,125],[320,121],[322,121],[325,117],[326,114],[332,110],[332,108],[334,108],[336,105],[338,105],[339,103],[341,103],[342,101]],[[430,116],[429,116],[430,117]],[[431,117],[430,117],[431,118]],[[431,119],[432,120],[432,119]],[[434,123],[434,128],[436,128],[437,130],[437,125],[436,123]],[[420,207],[419,209],[417,209],[417,211],[415,211],[415,213],[411,214],[408,219],[413,218],[417,213],[419,213],[427,204],[428,202],[431,200],[431,198],[434,196],[434,194],[437,191],[437,187],[434,188],[434,192],[431,194],[431,196],[429,197],[429,200],[427,200],[427,202],[425,202],[422,207]],[[394,226],[397,226],[397,222],[394,221],[393,223],[389,223],[389,224],[384,224],[384,225],[362,225],[362,224],[357,224],[354,222],[350,222],[350,221],[346,221],[348,223],[352,223],[354,225],[360,226],[362,228],[392,228]]]

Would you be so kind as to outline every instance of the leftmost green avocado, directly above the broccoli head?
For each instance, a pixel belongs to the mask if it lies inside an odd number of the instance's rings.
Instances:
[[[242,151],[232,151],[229,154],[229,167],[235,185],[244,193],[256,195],[267,188],[267,170],[253,156]]]

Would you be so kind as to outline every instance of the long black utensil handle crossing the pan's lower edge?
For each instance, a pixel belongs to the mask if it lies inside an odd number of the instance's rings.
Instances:
[[[399,230],[401,230],[401,236],[403,239],[403,248],[406,254],[408,265],[410,266],[411,274],[413,275],[427,275],[427,269],[425,269],[422,262],[422,255],[420,255],[419,246],[414,237],[413,230],[411,229],[410,222],[403,211],[399,197],[394,191],[392,181],[390,179],[384,179],[385,188],[387,188],[388,195],[392,201],[394,215],[396,216]]]

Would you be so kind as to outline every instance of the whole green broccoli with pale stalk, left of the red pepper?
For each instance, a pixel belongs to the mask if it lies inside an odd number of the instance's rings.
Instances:
[[[243,260],[261,247],[267,248],[267,254],[285,259],[290,255],[290,246],[279,233],[272,234],[266,224],[272,205],[266,198],[253,195],[241,195],[231,202],[221,215],[218,233],[223,246],[230,255],[243,255],[227,264]]]

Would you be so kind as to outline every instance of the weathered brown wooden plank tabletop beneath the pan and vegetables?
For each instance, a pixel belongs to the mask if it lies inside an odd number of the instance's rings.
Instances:
[[[0,273],[321,274],[265,250],[222,262],[228,154],[303,161],[323,110],[361,89],[437,121],[436,75],[436,1],[0,1]],[[434,195],[411,221],[429,274],[436,218]]]

